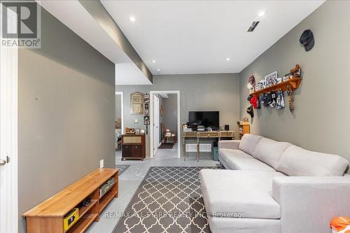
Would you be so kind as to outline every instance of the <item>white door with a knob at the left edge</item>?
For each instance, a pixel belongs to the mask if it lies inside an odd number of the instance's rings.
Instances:
[[[15,21],[13,21],[15,22]],[[18,232],[18,48],[0,52],[0,232]]]

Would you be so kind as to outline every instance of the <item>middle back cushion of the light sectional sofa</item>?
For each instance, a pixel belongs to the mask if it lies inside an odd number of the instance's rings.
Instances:
[[[292,144],[280,141],[274,141],[272,139],[262,138],[255,147],[253,157],[269,164],[271,167],[276,169],[279,160],[281,159],[282,153],[288,146]]]

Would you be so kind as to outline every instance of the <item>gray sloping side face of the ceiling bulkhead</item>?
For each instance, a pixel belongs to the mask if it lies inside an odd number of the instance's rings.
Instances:
[[[87,12],[94,17],[94,19],[105,29],[106,33],[113,38],[114,41],[123,49],[128,57],[134,62],[134,64],[139,67],[139,69],[144,73],[146,78],[153,82],[153,75],[151,71],[148,70],[146,64],[141,59],[139,54],[132,44],[129,42],[127,37],[123,34],[123,31],[119,28],[118,24],[113,20],[113,17],[109,15],[109,12],[104,8],[101,1],[86,1],[79,0],[82,6],[87,10]]]

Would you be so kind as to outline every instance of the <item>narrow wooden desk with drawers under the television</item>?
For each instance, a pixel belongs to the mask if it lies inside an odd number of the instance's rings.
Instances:
[[[186,160],[186,139],[197,139],[197,161],[200,160],[200,139],[218,139],[231,138],[235,139],[233,131],[210,131],[210,132],[182,132],[183,157]]]

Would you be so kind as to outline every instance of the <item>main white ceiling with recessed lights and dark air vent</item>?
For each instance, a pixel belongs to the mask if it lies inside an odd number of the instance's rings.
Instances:
[[[239,72],[324,2],[101,1],[153,74]]]

